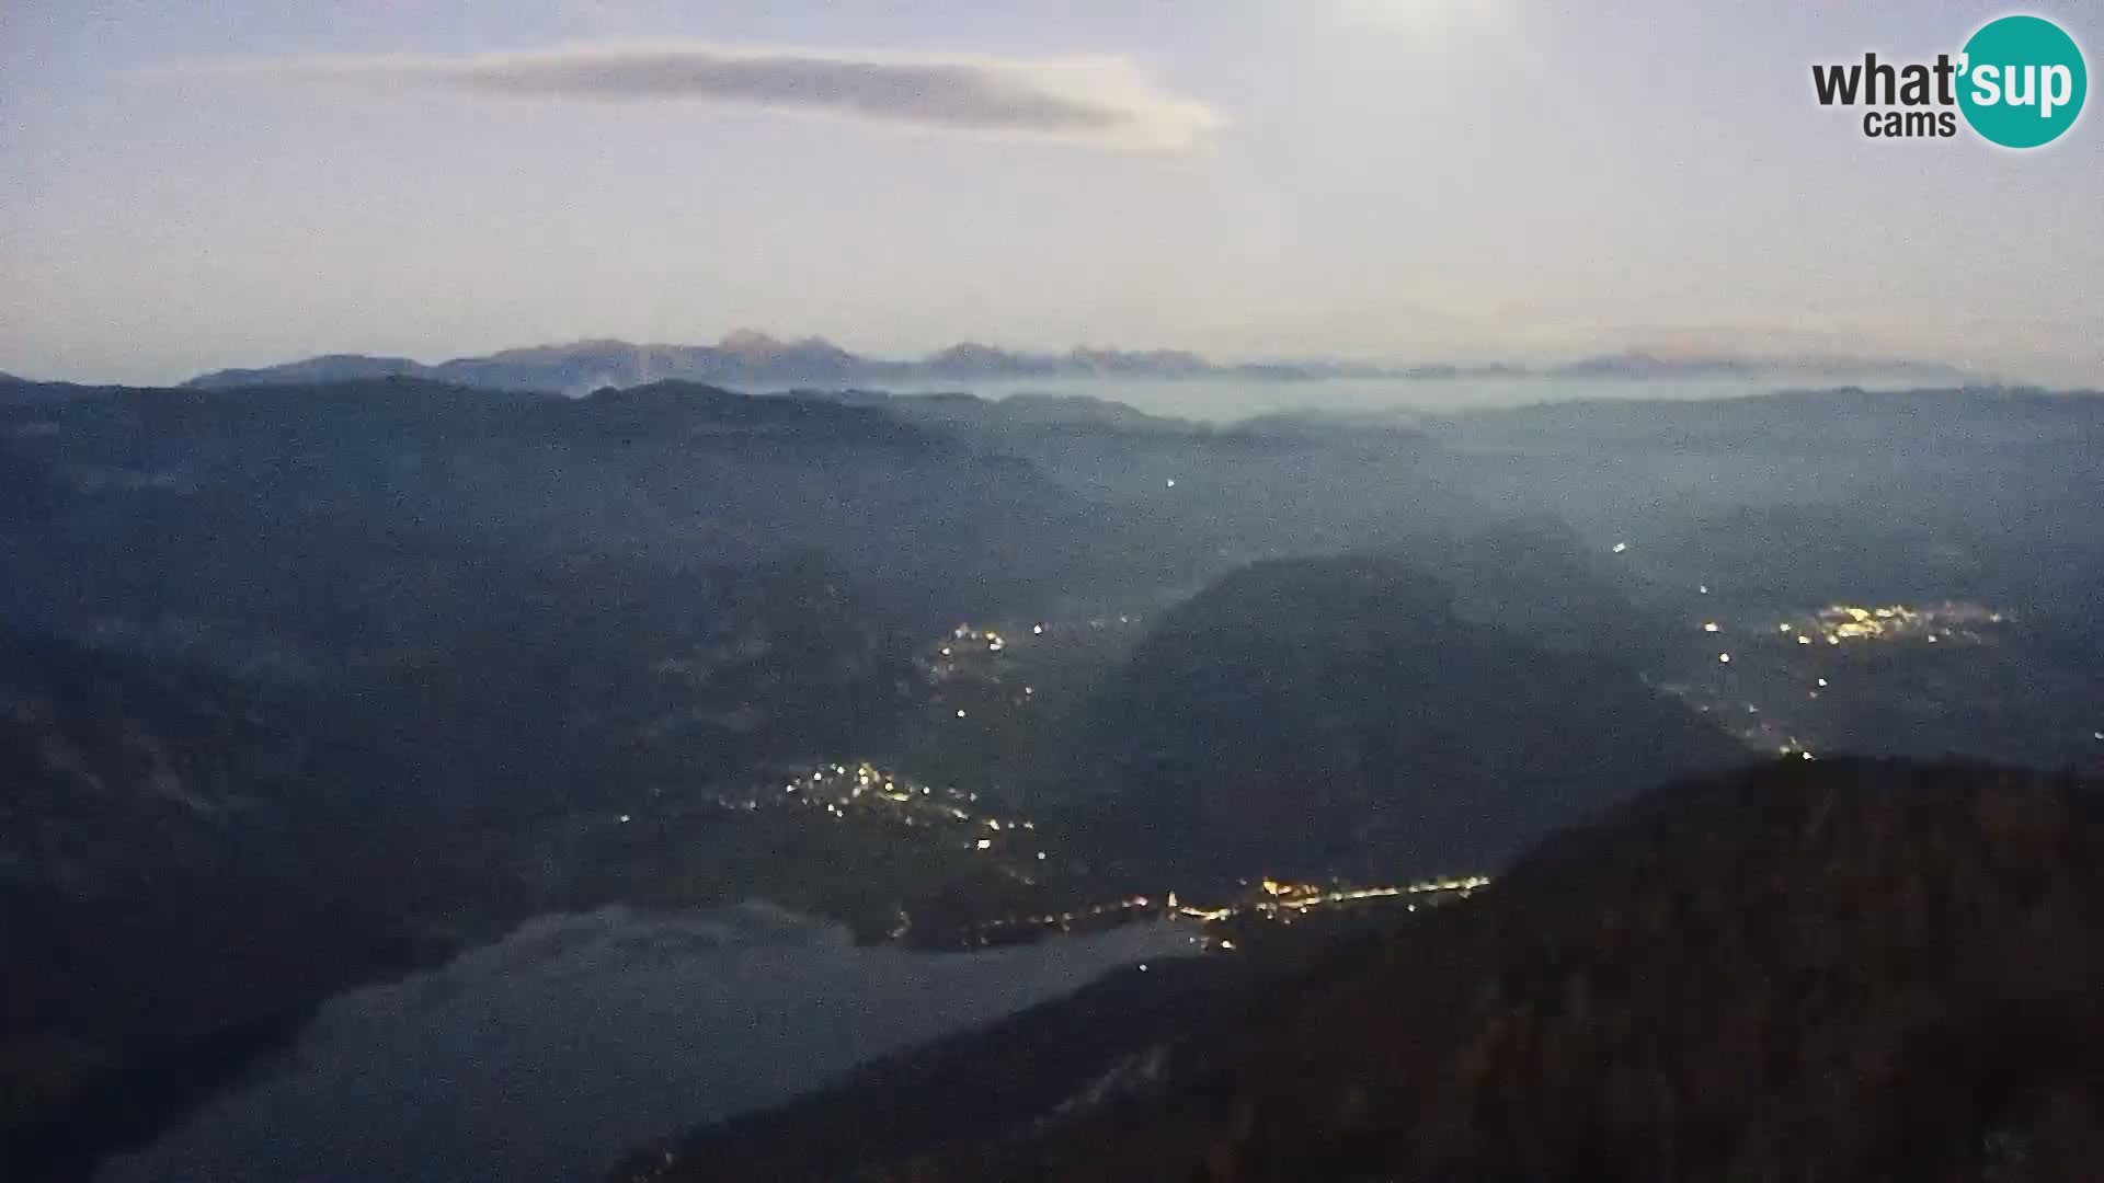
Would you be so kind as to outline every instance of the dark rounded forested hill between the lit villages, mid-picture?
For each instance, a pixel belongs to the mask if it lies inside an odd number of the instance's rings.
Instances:
[[[1069,722],[1086,848],[1185,876],[1496,865],[1744,749],[1633,671],[1456,617],[1405,560],[1273,560],[1172,608]],[[1086,789],[1084,789],[1086,791]]]

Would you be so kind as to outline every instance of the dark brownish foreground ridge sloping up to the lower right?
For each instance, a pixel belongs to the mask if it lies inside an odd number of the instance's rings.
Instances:
[[[1119,975],[616,1179],[2093,1179],[2098,981],[2096,785],[1784,762],[1395,933]]]

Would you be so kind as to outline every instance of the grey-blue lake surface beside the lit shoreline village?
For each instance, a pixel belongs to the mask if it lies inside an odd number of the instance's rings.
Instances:
[[[1170,924],[919,954],[766,905],[549,916],[330,1000],[288,1063],[99,1181],[598,1179],[652,1139],[1189,951]]]

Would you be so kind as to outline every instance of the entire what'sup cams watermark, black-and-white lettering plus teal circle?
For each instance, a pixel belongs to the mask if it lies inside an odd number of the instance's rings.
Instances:
[[[2041,147],[2081,118],[2089,67],[2060,25],[2001,17],[1934,63],[1866,53],[1862,61],[1814,65],[1812,93],[1822,107],[1866,107],[1862,135],[1870,139],[1955,137],[1963,116],[1988,143]]]

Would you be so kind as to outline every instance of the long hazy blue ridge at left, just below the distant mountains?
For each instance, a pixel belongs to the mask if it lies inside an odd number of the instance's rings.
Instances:
[[[583,400],[412,379],[78,392],[0,427],[21,486],[0,543],[23,573],[0,606],[61,623],[93,604],[316,627],[345,610],[328,598],[425,598],[484,556],[682,568],[814,549],[922,627],[1189,568],[1168,533],[1134,539],[1130,516],[879,408],[690,383]],[[356,596],[332,596],[345,579]]]

